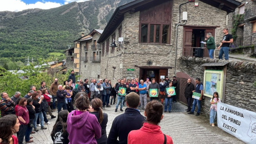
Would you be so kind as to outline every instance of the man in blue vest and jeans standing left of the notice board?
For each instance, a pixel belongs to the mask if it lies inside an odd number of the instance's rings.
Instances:
[[[201,83],[201,79],[200,78],[196,78],[196,90],[195,91],[192,91],[193,92],[193,95],[194,95],[194,92],[196,92],[196,94],[200,94],[200,97],[198,97],[198,99],[194,98],[194,101],[193,101],[193,107],[191,109],[191,111],[188,113],[190,115],[194,115],[194,111],[195,111],[195,108],[196,108],[196,105],[197,105],[197,113],[196,113],[196,116],[199,116],[200,115],[200,111],[201,111],[201,100],[202,100],[202,97],[203,97],[203,93],[204,93],[204,87],[203,87],[203,84]]]

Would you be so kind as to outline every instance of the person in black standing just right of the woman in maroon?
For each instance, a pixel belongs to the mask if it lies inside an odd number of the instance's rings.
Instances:
[[[33,129],[33,121],[35,118],[36,111],[34,110],[35,107],[32,104],[33,104],[33,99],[28,98],[26,107],[28,109],[29,123],[28,123],[27,130],[25,132],[26,143],[33,142],[33,140],[30,140],[30,139],[33,139],[33,137],[30,137],[30,133],[32,132],[32,129]]]

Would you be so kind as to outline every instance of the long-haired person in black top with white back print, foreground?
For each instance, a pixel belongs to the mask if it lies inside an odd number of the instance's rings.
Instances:
[[[62,110],[58,114],[56,123],[53,126],[51,137],[53,144],[62,143],[68,144],[68,132],[67,132],[67,119],[68,110]]]

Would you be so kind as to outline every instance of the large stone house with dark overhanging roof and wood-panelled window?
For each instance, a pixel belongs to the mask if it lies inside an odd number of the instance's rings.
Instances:
[[[209,57],[207,49],[198,49],[205,47],[200,42],[209,32],[215,42],[221,41],[226,15],[239,5],[234,0],[145,0],[119,6],[98,40],[102,44],[100,77],[114,82],[122,77],[154,77],[159,82],[160,77],[175,75],[182,55],[196,56],[203,50],[197,56]],[[183,12],[187,21],[182,21]],[[123,41],[110,47],[118,37]]]

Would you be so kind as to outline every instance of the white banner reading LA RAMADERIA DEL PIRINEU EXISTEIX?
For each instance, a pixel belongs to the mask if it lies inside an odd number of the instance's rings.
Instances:
[[[245,143],[256,143],[256,113],[219,102],[218,127]]]

